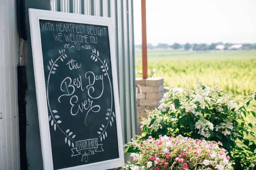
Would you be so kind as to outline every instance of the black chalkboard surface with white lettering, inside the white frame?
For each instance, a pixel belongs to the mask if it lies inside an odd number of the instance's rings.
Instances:
[[[108,26],[39,19],[39,27],[53,169],[119,159]]]

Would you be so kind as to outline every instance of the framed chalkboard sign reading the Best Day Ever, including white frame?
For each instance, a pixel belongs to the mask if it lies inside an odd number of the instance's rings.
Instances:
[[[29,9],[44,169],[124,164],[111,18]]]

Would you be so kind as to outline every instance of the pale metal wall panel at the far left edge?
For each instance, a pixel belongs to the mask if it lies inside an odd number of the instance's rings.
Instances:
[[[0,1],[0,170],[17,170],[19,158],[19,38],[15,0]]]

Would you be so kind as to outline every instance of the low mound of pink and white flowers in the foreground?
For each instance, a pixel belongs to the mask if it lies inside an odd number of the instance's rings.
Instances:
[[[160,135],[157,140],[149,136],[134,145],[139,152],[131,153],[135,162],[125,165],[124,170],[232,169],[226,150],[219,148],[215,141]]]

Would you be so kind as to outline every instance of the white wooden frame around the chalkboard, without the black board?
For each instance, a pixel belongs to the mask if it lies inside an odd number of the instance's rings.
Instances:
[[[30,21],[30,31],[31,31],[32,54],[33,54],[34,75],[35,75],[35,84],[36,84],[36,96],[37,96],[37,107],[38,107],[39,127],[40,127],[40,136],[41,136],[43,168],[45,170],[53,170],[53,158],[52,158],[52,150],[51,150],[51,138],[50,138],[48,114],[45,114],[45,113],[48,113],[48,109],[47,109],[47,102],[46,102],[46,95],[45,95],[46,90],[45,90],[45,80],[44,80],[44,71],[43,71],[43,58],[42,58],[39,19],[108,26],[111,66],[112,66],[111,71],[113,75],[113,89],[114,89],[116,121],[117,121],[119,158],[87,164],[87,165],[64,168],[64,169],[65,170],[80,170],[80,169],[99,170],[99,169],[111,169],[111,168],[123,166],[124,153],[123,153],[120,105],[119,105],[119,95],[118,95],[115,38],[114,38],[114,28],[113,28],[112,19],[105,18],[105,17],[97,17],[97,16],[47,11],[47,10],[30,8],[29,21]]]

